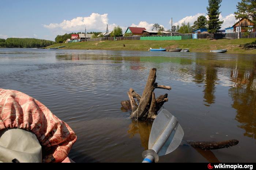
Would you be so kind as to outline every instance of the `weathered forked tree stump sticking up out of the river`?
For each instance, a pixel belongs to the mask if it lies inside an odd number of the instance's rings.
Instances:
[[[157,116],[157,112],[168,101],[167,94],[161,95],[155,98],[155,89],[166,89],[171,90],[170,86],[158,85],[155,82],[157,69],[151,69],[147,79],[146,86],[143,90],[142,96],[136,93],[132,88],[129,90],[128,97],[129,101],[121,101],[122,110],[130,110],[132,119],[139,120],[154,120]],[[138,101],[138,103],[135,101]]]

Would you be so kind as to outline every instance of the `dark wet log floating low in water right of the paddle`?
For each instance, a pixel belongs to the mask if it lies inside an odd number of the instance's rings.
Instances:
[[[227,148],[231,146],[235,146],[239,143],[238,140],[226,140],[222,142],[188,142],[192,147],[200,148],[202,150],[215,150],[221,148]]]

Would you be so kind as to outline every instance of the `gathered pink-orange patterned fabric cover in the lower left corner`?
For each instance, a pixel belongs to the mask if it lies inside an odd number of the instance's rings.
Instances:
[[[33,132],[46,151],[43,162],[62,162],[76,142],[75,132],[38,100],[16,90],[0,88],[0,130]]]

